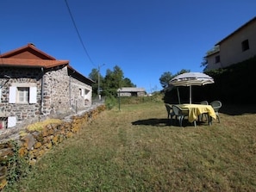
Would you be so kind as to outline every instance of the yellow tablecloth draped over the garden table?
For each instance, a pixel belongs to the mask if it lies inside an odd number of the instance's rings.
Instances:
[[[202,104],[179,104],[179,108],[189,109],[189,121],[196,121],[199,115],[204,113],[209,114],[212,118],[216,119],[215,110],[211,105],[202,105]]]

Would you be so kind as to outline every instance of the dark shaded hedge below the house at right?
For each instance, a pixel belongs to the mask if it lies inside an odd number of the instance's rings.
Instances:
[[[215,84],[203,88],[209,100],[228,103],[255,103],[256,57],[223,69],[205,71],[215,79]]]

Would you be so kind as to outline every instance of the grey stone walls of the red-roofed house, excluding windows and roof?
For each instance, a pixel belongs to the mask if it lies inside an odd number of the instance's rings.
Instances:
[[[31,84],[36,87],[36,103],[9,103],[10,86],[29,87]],[[0,118],[16,117],[16,127],[13,128],[47,117],[74,114],[91,106],[91,85],[79,81],[74,74],[69,75],[67,66],[47,71],[41,71],[41,68],[6,67],[0,71],[0,85]],[[87,95],[81,96],[79,90],[86,90]],[[0,133],[5,131],[8,130],[0,130]]]

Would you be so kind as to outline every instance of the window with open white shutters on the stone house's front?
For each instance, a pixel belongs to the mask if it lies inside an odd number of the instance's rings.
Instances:
[[[36,103],[36,87],[10,86],[9,103]]]

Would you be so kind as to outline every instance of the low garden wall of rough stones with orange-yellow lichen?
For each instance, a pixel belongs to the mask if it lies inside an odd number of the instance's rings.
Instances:
[[[8,183],[8,174],[12,165],[9,161],[16,154],[19,158],[26,159],[28,164],[35,164],[53,146],[57,146],[64,139],[72,137],[73,134],[84,127],[88,122],[97,118],[105,105],[98,105],[77,115],[67,116],[62,121],[53,121],[43,126],[33,125],[27,127],[20,133],[2,139],[0,143],[0,190]],[[14,142],[14,141],[15,142]],[[17,147],[14,143],[18,144]]]

